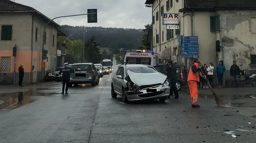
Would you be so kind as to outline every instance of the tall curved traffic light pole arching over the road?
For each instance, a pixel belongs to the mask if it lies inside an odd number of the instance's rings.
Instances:
[[[97,14],[97,13],[89,13],[89,14]],[[72,17],[72,16],[80,16],[80,15],[88,15],[88,14],[76,14],[76,15],[67,15],[67,16],[59,16],[59,17],[55,17],[53,19],[51,19],[43,28],[43,42],[42,42],[42,60],[41,60],[41,82],[43,82],[43,50],[44,50],[44,33],[45,33],[45,29],[46,27],[49,25],[50,22],[52,22],[54,19],[56,18],[61,18],[61,17]],[[45,36],[46,37],[46,36]],[[57,45],[58,46],[58,45]]]

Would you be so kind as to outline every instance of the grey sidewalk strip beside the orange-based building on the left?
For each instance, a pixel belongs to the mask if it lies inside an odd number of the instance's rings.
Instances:
[[[54,85],[59,85],[60,82],[43,82],[43,83],[33,83],[33,84],[24,84],[23,87],[18,87],[18,85],[0,85],[0,94],[3,93],[13,93],[13,92],[23,92],[29,91],[31,89],[37,88],[47,88]]]

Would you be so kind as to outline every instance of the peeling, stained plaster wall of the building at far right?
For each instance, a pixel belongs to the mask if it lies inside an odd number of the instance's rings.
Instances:
[[[251,20],[256,17],[256,11],[219,11],[218,14],[224,47],[220,59],[224,59],[227,69],[235,60],[242,69],[256,70],[256,66],[250,64],[250,55],[256,54],[256,23]]]

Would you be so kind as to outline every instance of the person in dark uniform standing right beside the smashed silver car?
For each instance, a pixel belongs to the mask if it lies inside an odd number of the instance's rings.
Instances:
[[[177,82],[177,75],[176,75],[176,68],[173,66],[172,61],[168,61],[168,65],[166,68],[167,72],[167,79],[170,81],[170,96],[172,96],[172,93],[174,92],[175,98],[179,99],[179,93],[176,87]],[[168,98],[170,98],[170,96]]]

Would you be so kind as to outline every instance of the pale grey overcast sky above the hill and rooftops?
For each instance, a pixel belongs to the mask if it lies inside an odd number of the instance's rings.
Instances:
[[[146,0],[15,0],[31,6],[49,18],[87,13],[97,8],[98,23],[87,23],[87,16],[56,19],[60,25],[144,28],[151,23],[151,8]]]

